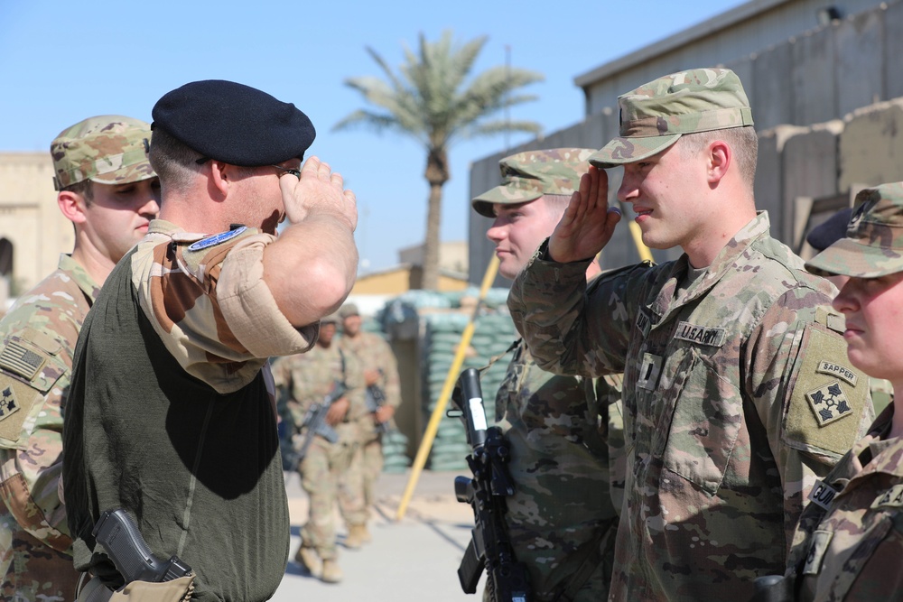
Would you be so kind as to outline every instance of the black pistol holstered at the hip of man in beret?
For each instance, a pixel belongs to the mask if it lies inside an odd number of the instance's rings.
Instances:
[[[119,574],[126,579],[126,585],[132,581],[172,581],[193,574],[191,567],[177,556],[169,560],[154,556],[132,516],[122,508],[104,511],[91,534],[103,546]],[[112,595],[113,591],[103,586],[100,579],[91,579],[79,599],[105,602]]]

